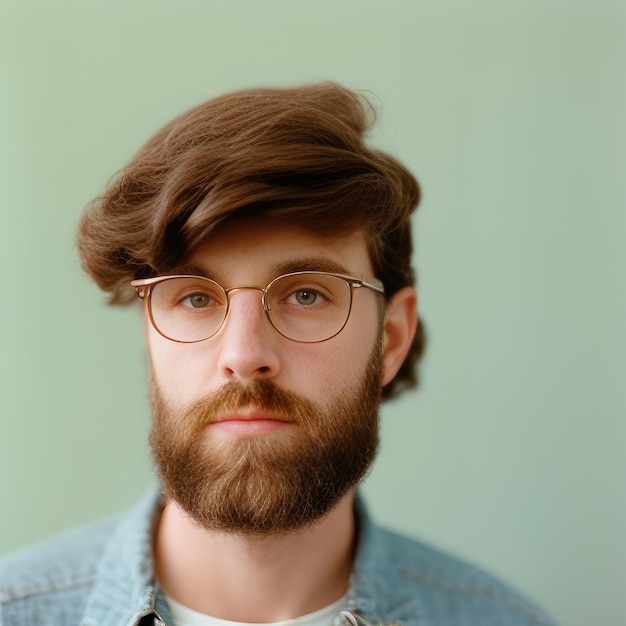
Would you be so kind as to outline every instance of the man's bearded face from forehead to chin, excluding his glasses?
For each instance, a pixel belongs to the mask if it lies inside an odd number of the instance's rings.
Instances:
[[[372,275],[362,234],[321,237],[289,222],[234,221],[188,264],[225,288],[278,274]],[[281,336],[259,291],[230,294],[219,332],[180,344],[147,324],[154,457],[166,495],[207,528],[267,535],[306,526],[363,477],[378,442],[380,296],[357,289],[345,328],[320,343]]]

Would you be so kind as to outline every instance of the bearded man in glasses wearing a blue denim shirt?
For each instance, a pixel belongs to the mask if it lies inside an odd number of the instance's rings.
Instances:
[[[144,303],[160,490],[5,559],[3,626],[551,623],[356,493],[423,345],[419,189],[371,113],[333,84],[230,94],[87,207],[85,269]]]

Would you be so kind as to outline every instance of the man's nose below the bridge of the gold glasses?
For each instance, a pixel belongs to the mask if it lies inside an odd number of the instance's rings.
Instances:
[[[218,369],[228,381],[271,379],[280,369],[278,341],[255,289],[230,294],[228,315],[214,339],[219,341]]]

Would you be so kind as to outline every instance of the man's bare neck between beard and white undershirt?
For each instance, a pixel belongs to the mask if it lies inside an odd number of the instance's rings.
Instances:
[[[231,621],[270,623],[316,611],[348,589],[353,504],[350,493],[310,528],[250,538],[201,528],[169,501],[155,535],[159,583],[181,604]]]

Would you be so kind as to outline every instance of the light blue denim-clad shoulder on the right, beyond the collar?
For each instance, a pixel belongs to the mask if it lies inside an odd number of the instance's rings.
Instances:
[[[555,625],[522,594],[484,570],[371,522],[367,525],[358,562],[370,584],[376,581],[373,596],[388,621]]]

